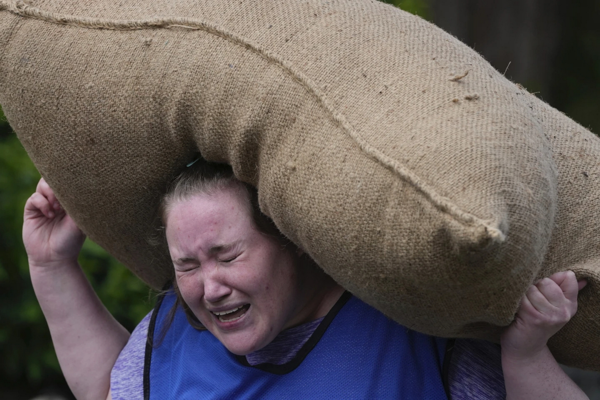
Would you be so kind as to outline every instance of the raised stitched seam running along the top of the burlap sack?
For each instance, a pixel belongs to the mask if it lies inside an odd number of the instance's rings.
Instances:
[[[305,76],[301,71],[296,70],[296,68],[293,67],[290,62],[287,62],[277,54],[265,49],[265,47],[260,46],[260,44],[253,43],[247,38],[236,35],[233,32],[228,32],[225,29],[219,28],[211,23],[185,17],[165,17],[145,20],[108,20],[100,18],[77,17],[43,11],[40,10],[40,8],[25,4],[23,0],[17,0],[16,2],[0,0],[0,10],[2,9],[8,10],[11,13],[19,14],[20,16],[43,20],[44,22],[71,25],[89,29],[113,29],[116,31],[128,31],[136,29],[186,28],[200,30],[232,41],[233,43],[245,47],[248,50],[252,50],[253,52],[265,58],[266,61],[279,65],[287,74],[292,76],[293,79],[304,86],[304,88],[313,94],[317,101],[322,104],[322,107],[325,108],[331,118],[344,131],[346,131],[346,134],[351,139],[356,142],[362,152],[378,161],[380,164],[383,164],[383,166],[392,170],[392,172],[395,172],[397,175],[401,176],[401,178],[403,178],[405,181],[409,182],[416,190],[421,192],[430,201],[430,203],[440,210],[440,212],[451,215],[463,225],[481,225],[485,228],[488,236],[496,241],[503,242],[505,240],[505,234],[498,228],[491,227],[483,219],[478,218],[471,213],[464,212],[449,199],[437,194],[436,191],[430,188],[425,182],[422,182],[421,179],[419,179],[418,176],[416,176],[409,169],[391,157],[383,154],[383,152],[371,147],[367,141],[364,140],[352,127],[346,118],[344,118],[344,116],[338,112],[338,110],[336,110],[331,103],[329,103],[329,100],[325,97],[325,94],[323,94],[323,92],[317,88],[317,85],[315,85],[307,76]]]

